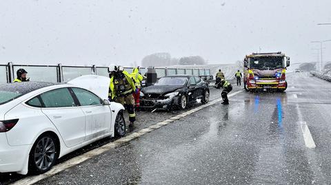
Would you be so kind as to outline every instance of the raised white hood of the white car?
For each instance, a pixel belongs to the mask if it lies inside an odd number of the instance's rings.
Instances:
[[[74,78],[68,82],[68,84],[76,85],[92,91],[100,98],[108,100],[108,91],[110,85],[110,78],[106,76],[98,75],[85,75]]]

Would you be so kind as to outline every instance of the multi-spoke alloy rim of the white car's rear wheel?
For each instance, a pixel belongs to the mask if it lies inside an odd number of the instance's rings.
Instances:
[[[42,138],[34,150],[34,163],[40,170],[46,170],[55,159],[55,144],[52,138]]]

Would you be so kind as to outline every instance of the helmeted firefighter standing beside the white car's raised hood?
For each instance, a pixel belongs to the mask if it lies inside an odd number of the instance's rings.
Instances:
[[[121,103],[129,113],[130,125],[136,120],[136,113],[134,111],[134,98],[132,94],[136,92],[136,86],[132,77],[121,66],[111,65],[108,69],[112,76],[110,78],[108,94],[110,100]]]

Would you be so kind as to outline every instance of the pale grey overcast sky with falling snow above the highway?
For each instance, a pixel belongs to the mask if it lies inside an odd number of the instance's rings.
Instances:
[[[3,0],[0,63],[129,65],[154,52],[234,63],[282,51],[317,61],[331,39],[330,0]],[[331,42],[323,61],[331,61]]]

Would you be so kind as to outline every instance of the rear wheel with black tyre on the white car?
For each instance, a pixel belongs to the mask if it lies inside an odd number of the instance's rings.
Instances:
[[[51,134],[41,135],[34,142],[29,155],[29,171],[32,174],[41,174],[49,171],[59,156],[59,143]]]

